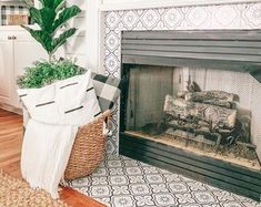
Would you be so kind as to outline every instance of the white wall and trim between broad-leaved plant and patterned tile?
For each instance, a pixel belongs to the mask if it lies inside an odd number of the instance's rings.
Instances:
[[[77,4],[82,13],[71,22],[79,29],[67,43],[67,56],[77,59],[78,64],[102,73],[103,61],[100,52],[104,40],[103,12],[100,11],[102,0],[67,0],[68,4]]]

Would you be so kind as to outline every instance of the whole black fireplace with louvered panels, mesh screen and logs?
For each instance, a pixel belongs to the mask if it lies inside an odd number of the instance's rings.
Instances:
[[[260,38],[122,32],[120,153],[260,200],[261,114],[244,103],[261,81]]]

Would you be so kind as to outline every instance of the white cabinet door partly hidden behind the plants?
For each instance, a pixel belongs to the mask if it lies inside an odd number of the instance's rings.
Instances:
[[[46,51],[42,49],[40,43],[33,40],[29,34],[16,34],[16,40],[13,41],[13,77],[18,79],[19,75],[22,75],[24,69],[30,66],[34,61],[41,59],[48,59]],[[17,94],[17,84],[13,84],[13,106],[20,107],[18,94]]]

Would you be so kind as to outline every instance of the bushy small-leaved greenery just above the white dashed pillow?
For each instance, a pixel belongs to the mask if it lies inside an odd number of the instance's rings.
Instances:
[[[64,80],[82,74],[74,62],[70,60],[37,61],[32,66],[26,68],[23,75],[18,77],[20,89],[39,89],[58,80]]]

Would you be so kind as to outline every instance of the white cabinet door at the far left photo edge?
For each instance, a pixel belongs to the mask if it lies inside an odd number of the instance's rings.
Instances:
[[[0,103],[10,104],[13,85],[12,41],[0,35]]]

